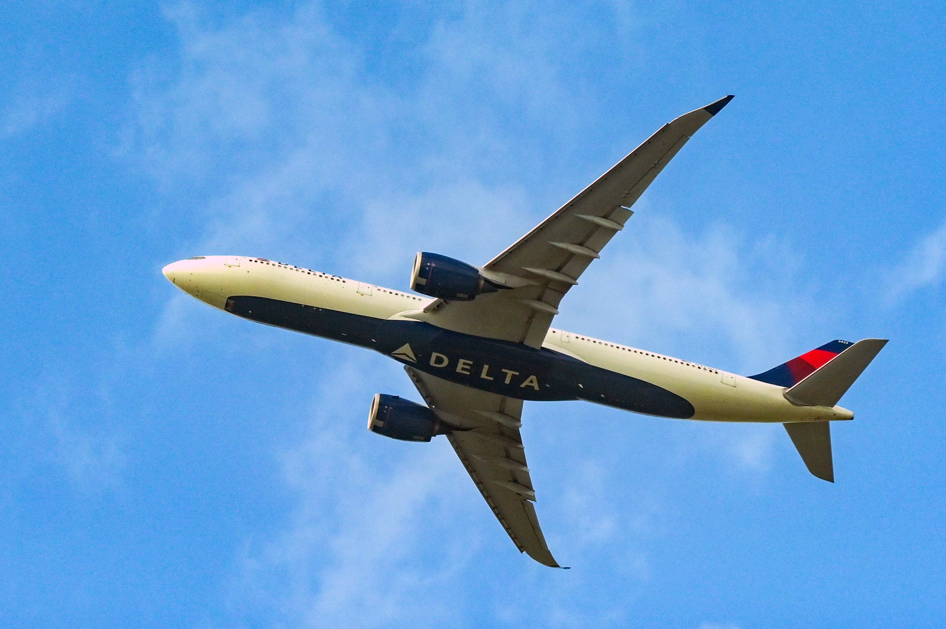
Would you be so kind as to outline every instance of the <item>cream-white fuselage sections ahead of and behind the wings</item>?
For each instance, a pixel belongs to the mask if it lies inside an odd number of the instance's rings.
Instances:
[[[225,309],[228,297],[266,297],[380,322],[405,311],[423,309],[432,301],[259,258],[206,256],[168,264],[164,273],[184,292],[220,310]],[[671,391],[692,403],[692,419],[799,422],[853,417],[839,406],[793,404],[783,397],[785,389],[774,384],[584,334],[550,329],[543,347]]]

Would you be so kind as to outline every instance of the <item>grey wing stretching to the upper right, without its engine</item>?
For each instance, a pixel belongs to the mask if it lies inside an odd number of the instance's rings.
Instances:
[[[473,301],[437,299],[423,318],[447,330],[540,348],[562,297],[630,218],[630,208],[697,129],[732,96],[661,127],[598,180],[483,267],[509,287]],[[420,317],[418,317],[420,318]]]

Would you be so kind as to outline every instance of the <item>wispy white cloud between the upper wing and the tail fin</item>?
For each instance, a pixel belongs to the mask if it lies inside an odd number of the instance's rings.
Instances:
[[[797,279],[788,244],[751,243],[725,225],[694,233],[655,215],[646,199],[640,205],[618,236],[630,246],[612,245],[591,266],[576,299],[563,302],[563,319],[576,318],[585,299],[596,306],[577,318],[604,326],[600,333],[748,374],[792,358],[789,343],[827,315]]]

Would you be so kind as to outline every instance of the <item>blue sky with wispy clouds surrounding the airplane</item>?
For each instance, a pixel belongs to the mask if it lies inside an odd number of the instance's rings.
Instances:
[[[10,627],[939,627],[936,3],[8,3],[0,617]],[[555,325],[743,374],[891,342],[836,484],[780,426],[526,406],[552,552],[444,439],[368,433],[363,349],[169,284],[262,256],[399,289],[483,263],[734,93]]]

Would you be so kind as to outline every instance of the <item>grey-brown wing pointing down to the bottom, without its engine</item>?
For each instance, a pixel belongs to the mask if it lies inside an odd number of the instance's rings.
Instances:
[[[427,405],[453,426],[447,434],[473,483],[520,553],[561,568],[549,552],[535,515],[535,490],[519,435],[522,400],[504,398],[404,367]]]

